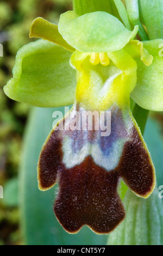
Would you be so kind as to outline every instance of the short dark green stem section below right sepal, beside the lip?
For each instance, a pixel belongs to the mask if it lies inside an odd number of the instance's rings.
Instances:
[[[145,131],[148,114],[149,114],[149,111],[147,109],[141,108],[139,105],[135,103],[133,116],[137,122],[137,125],[140,127],[142,135]]]

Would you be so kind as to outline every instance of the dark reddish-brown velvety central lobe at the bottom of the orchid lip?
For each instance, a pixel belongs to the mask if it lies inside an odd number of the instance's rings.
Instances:
[[[59,175],[60,192],[54,212],[69,233],[77,233],[88,225],[98,234],[108,234],[125,217],[125,210],[116,192],[116,173],[107,173],[90,156]]]

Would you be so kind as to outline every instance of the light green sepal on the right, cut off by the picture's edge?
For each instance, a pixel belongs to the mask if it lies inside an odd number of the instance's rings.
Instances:
[[[146,66],[140,58],[135,58],[137,83],[131,93],[131,97],[138,105],[153,111],[163,111],[163,58],[160,45],[163,46],[162,39],[143,42],[143,47],[152,54],[153,62]]]

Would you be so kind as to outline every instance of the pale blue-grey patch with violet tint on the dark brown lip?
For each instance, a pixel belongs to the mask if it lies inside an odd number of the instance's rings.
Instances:
[[[82,113],[81,108],[75,110]],[[123,153],[124,144],[129,140],[129,134],[122,110],[118,106],[112,106],[108,111],[111,111],[111,133],[109,136],[101,136],[104,132],[101,129],[97,130],[74,130],[67,131],[62,143],[64,151],[63,162],[67,168],[72,168],[81,164],[85,157],[92,156],[93,161],[100,167],[110,171],[118,166]],[[75,112],[71,112],[73,118]],[[71,119],[70,118],[70,119]],[[80,121],[82,121],[80,119]],[[104,122],[106,121],[106,117]],[[81,122],[82,124],[82,122]],[[107,122],[106,122],[107,124]],[[105,127],[106,127],[105,124]]]

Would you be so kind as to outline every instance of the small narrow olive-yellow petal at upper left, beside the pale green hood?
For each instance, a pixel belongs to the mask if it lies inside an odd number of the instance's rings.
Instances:
[[[58,31],[58,26],[54,23],[48,22],[47,20],[38,17],[30,26],[30,38],[42,38],[50,42],[54,42],[57,45],[64,47],[68,51],[74,51],[75,49],[67,44],[67,42],[62,38]]]

